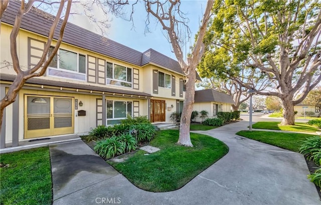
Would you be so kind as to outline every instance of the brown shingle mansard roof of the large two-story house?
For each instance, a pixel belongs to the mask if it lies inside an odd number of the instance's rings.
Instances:
[[[20,5],[20,1],[10,1],[1,21],[14,25],[16,14],[20,8]],[[24,15],[21,28],[48,36],[53,18],[54,16],[46,12],[32,8],[30,12]],[[61,27],[61,23],[62,21],[60,21],[58,28]],[[54,38],[57,39],[58,36],[59,30],[56,30]],[[183,74],[179,63],[164,54],[161,54],[153,49],[148,49],[147,51],[141,53],[69,22],[65,28],[63,42],[110,56],[112,58],[116,58],[137,66],[154,63],[156,65],[166,67],[169,70]],[[201,80],[198,74],[197,79]]]

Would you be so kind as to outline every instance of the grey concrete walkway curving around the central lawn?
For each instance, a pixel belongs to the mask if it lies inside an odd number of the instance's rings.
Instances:
[[[248,122],[198,131],[222,140],[229,152],[176,191],[141,190],[83,142],[50,146],[57,204],[321,204],[302,155],[239,138]]]

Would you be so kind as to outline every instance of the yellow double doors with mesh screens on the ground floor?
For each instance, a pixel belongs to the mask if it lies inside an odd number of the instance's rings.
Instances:
[[[25,96],[25,138],[74,133],[73,98]]]

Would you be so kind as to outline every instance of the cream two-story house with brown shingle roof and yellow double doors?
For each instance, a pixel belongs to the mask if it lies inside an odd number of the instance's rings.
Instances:
[[[11,1],[1,19],[2,63],[12,63],[10,33],[20,4]],[[49,17],[35,8],[24,15],[17,37],[22,68],[40,59],[52,25]],[[1,69],[1,98],[15,76],[11,65]],[[184,97],[184,74],[176,60],[153,49],[141,53],[68,23],[46,74],[29,79],[6,108],[1,148],[4,141],[18,146],[30,138],[85,133],[97,125],[117,124],[127,114],[171,122]]]

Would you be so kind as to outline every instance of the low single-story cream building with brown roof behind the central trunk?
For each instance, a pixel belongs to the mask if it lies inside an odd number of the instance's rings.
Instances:
[[[204,89],[195,91],[195,104],[193,107],[194,111],[207,111],[208,117],[216,117],[218,112],[231,112],[235,102],[233,98],[215,89]],[[196,122],[201,122],[202,118],[199,115],[196,118]]]

